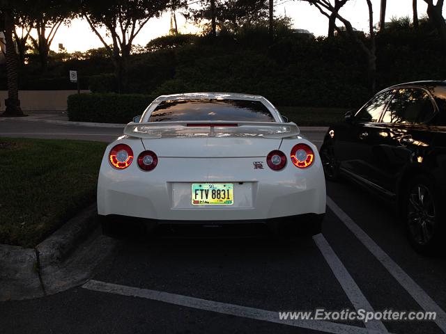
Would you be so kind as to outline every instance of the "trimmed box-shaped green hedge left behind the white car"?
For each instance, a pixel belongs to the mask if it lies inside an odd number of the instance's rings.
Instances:
[[[77,122],[128,123],[153,101],[140,94],[74,94],[68,97],[68,118]]]

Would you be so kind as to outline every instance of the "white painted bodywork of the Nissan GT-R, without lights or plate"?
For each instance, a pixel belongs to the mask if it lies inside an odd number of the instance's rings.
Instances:
[[[163,100],[196,98],[197,95],[261,100],[276,122],[284,126],[293,124],[283,123],[278,111],[263,97],[223,93],[158,97],[148,106],[141,122],[147,122],[151,111]],[[192,127],[190,131],[194,129]],[[208,127],[204,129],[209,131]],[[325,178],[321,159],[316,146],[305,137],[183,134],[170,132],[165,138],[122,136],[108,145],[98,179],[98,214],[159,221],[224,222],[325,213]],[[114,168],[109,161],[109,152],[118,143],[129,145],[134,152],[132,164],[123,170]],[[298,143],[305,143],[314,151],[314,163],[308,168],[297,168],[291,162],[291,149]],[[158,157],[158,164],[151,171],[141,170],[137,164],[139,153],[145,150],[152,150]],[[283,170],[275,171],[268,167],[266,156],[272,150],[282,150],[286,154],[287,164]],[[263,169],[255,169],[254,162],[261,162]],[[233,205],[192,205],[191,184],[206,182],[233,183]]]

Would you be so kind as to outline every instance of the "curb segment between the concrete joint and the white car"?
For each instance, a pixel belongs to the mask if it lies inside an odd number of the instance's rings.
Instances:
[[[62,262],[98,226],[96,204],[82,210],[36,246],[40,267]]]

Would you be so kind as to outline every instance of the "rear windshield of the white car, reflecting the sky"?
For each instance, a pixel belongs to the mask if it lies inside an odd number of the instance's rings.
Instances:
[[[187,120],[275,122],[270,111],[259,101],[209,99],[163,101],[148,119],[149,122]]]

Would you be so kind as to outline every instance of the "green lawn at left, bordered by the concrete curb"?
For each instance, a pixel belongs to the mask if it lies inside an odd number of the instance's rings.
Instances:
[[[0,244],[36,246],[93,203],[105,146],[0,138]]]

